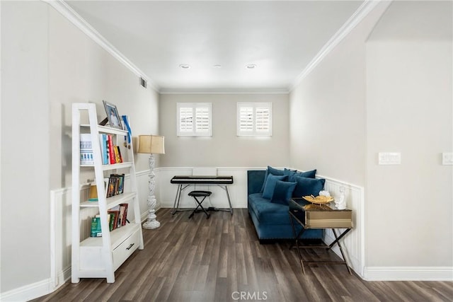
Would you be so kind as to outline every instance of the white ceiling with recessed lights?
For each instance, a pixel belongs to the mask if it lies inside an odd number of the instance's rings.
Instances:
[[[161,92],[288,91],[362,2],[66,1]]]

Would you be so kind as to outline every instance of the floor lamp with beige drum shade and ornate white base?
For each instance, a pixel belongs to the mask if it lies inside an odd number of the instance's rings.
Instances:
[[[143,223],[143,228],[153,229],[159,228],[161,223],[156,221],[154,207],[156,207],[156,197],[154,196],[154,154],[164,154],[164,137],[159,135],[139,135],[139,151],[138,153],[149,154],[149,187],[148,187],[148,219]]]

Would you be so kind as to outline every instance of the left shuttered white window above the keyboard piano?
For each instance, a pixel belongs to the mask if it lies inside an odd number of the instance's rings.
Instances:
[[[212,136],[211,103],[178,103],[178,137]]]

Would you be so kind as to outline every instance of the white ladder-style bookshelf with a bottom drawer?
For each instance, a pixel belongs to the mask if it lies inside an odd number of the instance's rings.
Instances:
[[[88,118],[89,124],[81,124],[82,118]],[[90,133],[93,151],[93,164],[81,165],[80,134]],[[72,190],[72,248],[71,248],[71,281],[77,283],[80,278],[105,278],[108,283],[115,282],[115,271],[127,257],[144,248],[142,226],[140,220],[137,180],[135,175],[132,141],[130,149],[125,149],[123,163],[103,165],[99,134],[112,134],[116,142],[127,136],[127,131],[98,125],[96,104],[72,104],[72,187],[78,188],[81,183],[81,169],[92,169],[95,174],[98,202],[81,200],[79,190]],[[93,139],[94,138],[94,139]],[[128,173],[130,182],[128,192],[106,197],[104,178],[109,173]],[[127,203],[130,223],[110,231],[108,209],[118,204]],[[101,216],[102,237],[88,237],[81,234],[80,211],[87,208],[98,208]],[[88,235],[88,236],[87,236]],[[81,240],[82,238],[82,240]]]

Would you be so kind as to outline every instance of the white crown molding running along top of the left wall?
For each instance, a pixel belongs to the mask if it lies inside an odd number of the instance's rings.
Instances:
[[[143,71],[141,71],[137,66],[135,66],[132,62],[130,62],[127,57],[125,57],[124,54],[122,54],[119,50],[117,50],[113,45],[108,42],[108,40],[103,37],[96,29],[93,28],[88,22],[84,20],[74,9],[71,8],[66,2],[63,0],[41,0],[53,8],[55,8],[56,11],[62,14],[65,18],[67,18],[72,24],[76,26],[76,28],[79,28],[83,33],[88,35],[88,37],[91,38],[96,44],[101,46],[106,52],[111,54],[115,59],[117,59],[120,63],[125,65],[127,69],[130,69],[134,74],[136,74],[139,77],[142,77],[145,79],[151,87],[151,89],[154,89],[154,91],[159,92],[159,86],[151,81],[146,74],[144,74]]]

